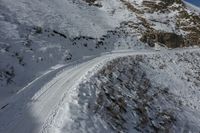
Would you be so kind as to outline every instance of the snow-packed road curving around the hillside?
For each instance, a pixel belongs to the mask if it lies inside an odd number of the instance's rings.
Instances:
[[[55,77],[53,75],[61,71],[60,69],[47,72],[30,83],[17,95],[1,103],[1,107],[8,106],[0,110],[0,131],[4,133],[39,132],[39,130],[42,130],[41,132],[56,132],[54,129],[56,130],[57,128],[56,126],[54,127],[54,124],[57,124],[57,122],[52,122],[56,119],[54,117],[57,117],[56,114],[63,108],[63,104],[66,101],[71,102],[70,99],[73,94],[76,95],[75,86],[81,82],[81,79],[85,78],[87,73],[97,71],[105,62],[117,56],[137,53],[140,54],[140,52],[134,51],[119,52],[111,55],[105,54],[73,67],[69,66],[65,69],[61,67],[64,71]],[[143,52],[141,53],[143,54]],[[52,79],[52,77],[54,78]],[[47,81],[49,82],[47,83]],[[68,118],[66,117],[66,119]],[[23,127],[21,127],[22,125]],[[49,128],[52,126],[54,128],[50,130]]]

